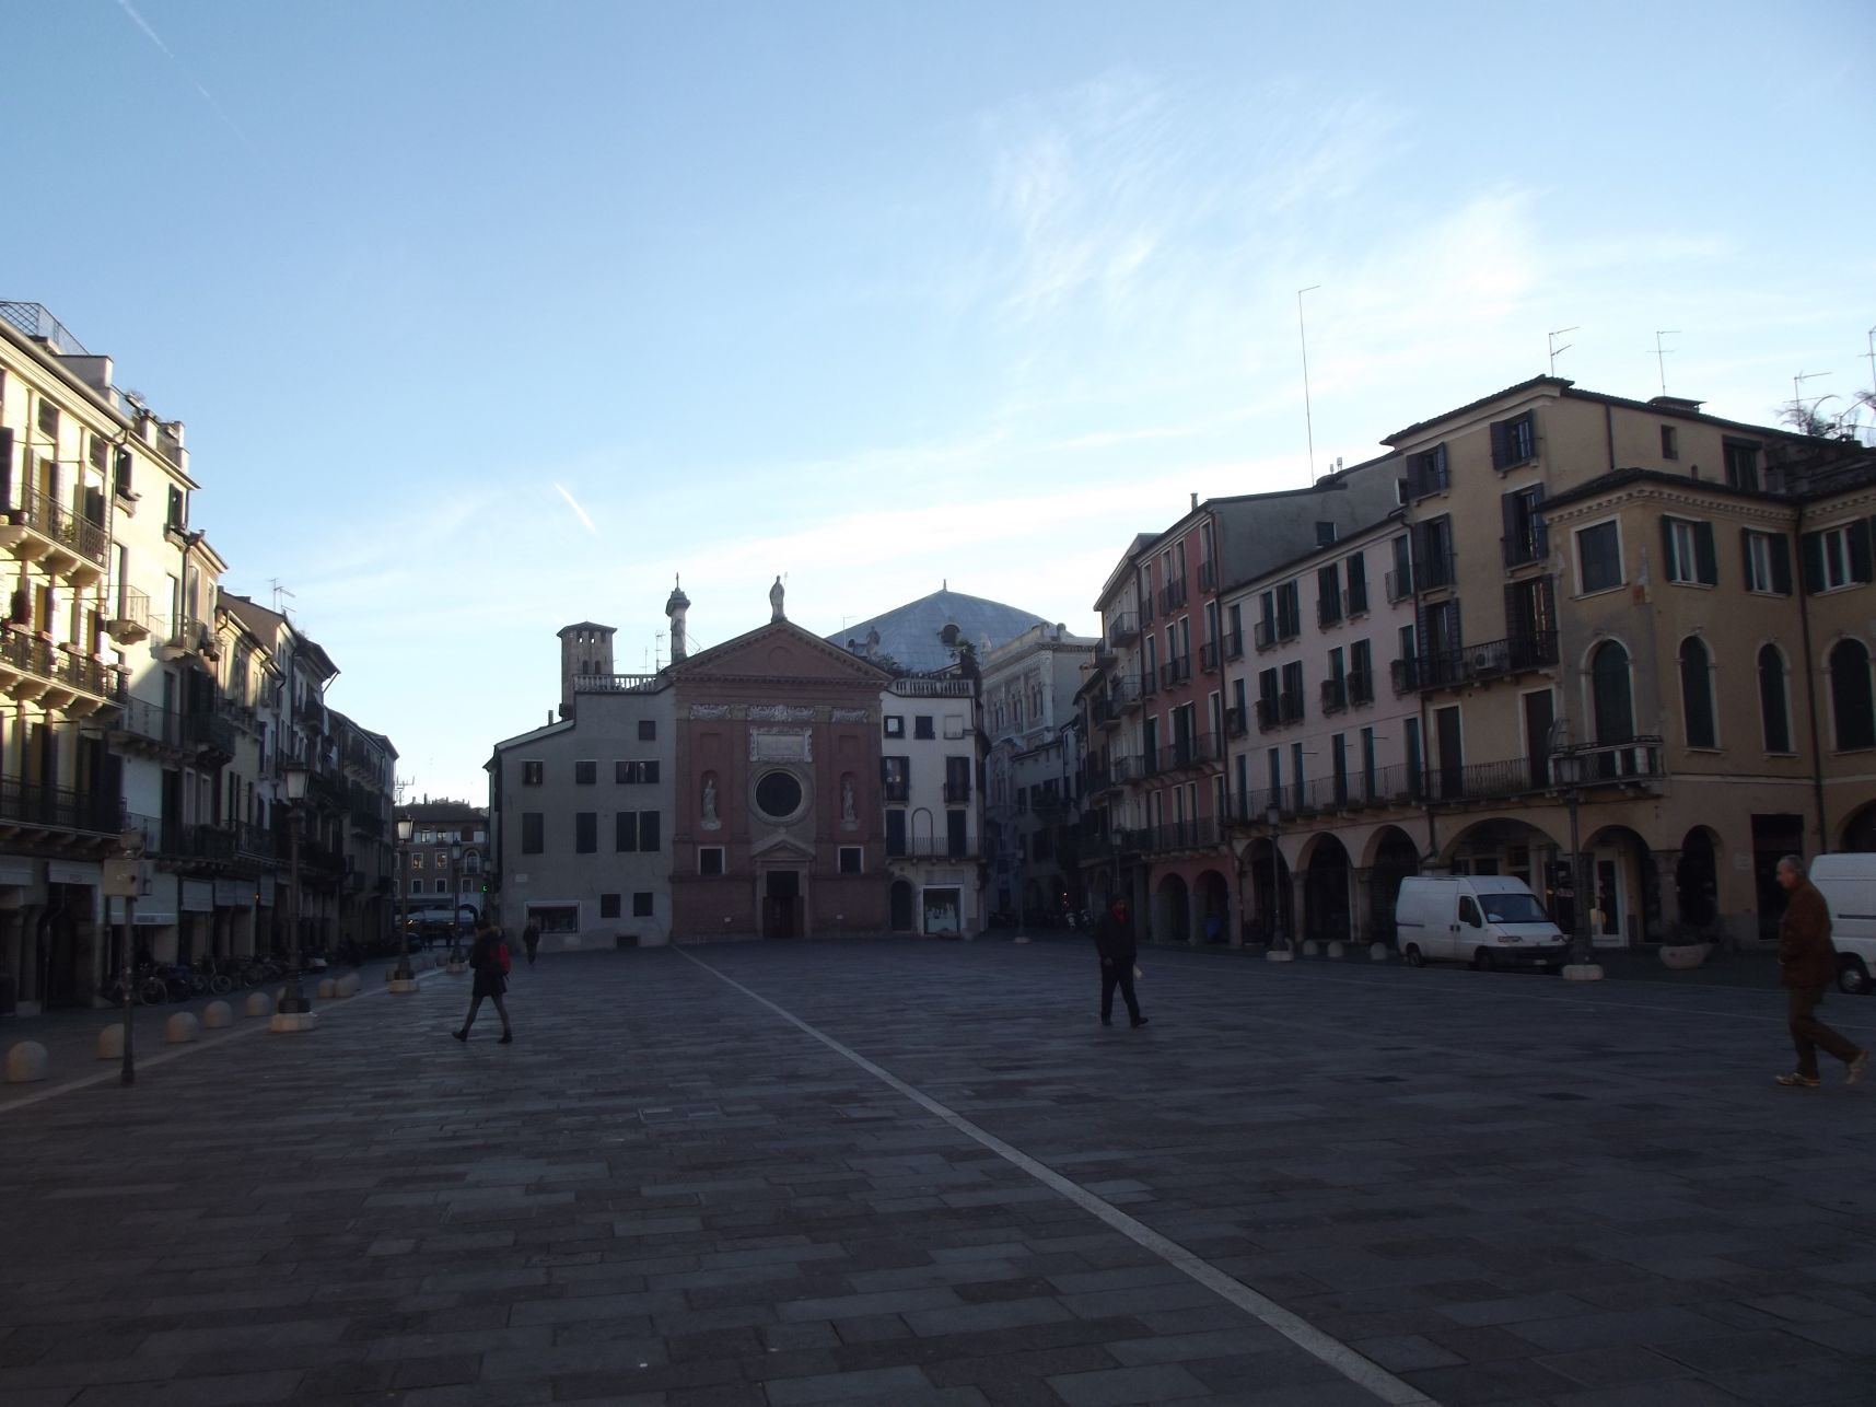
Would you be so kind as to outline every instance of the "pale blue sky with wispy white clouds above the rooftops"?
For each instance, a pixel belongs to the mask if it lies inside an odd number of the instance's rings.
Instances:
[[[677,574],[692,647],[777,574],[820,634],[944,583],[1090,632],[1191,493],[1369,458],[1553,330],[1741,420],[1870,388],[1867,21],[17,2],[0,298],[188,424],[223,585],[291,593],[405,799],[480,801],[553,632],[651,668]]]

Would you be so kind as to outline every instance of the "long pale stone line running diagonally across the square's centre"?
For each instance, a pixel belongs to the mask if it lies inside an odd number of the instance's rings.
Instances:
[[[1161,1261],[1165,1261],[1174,1270],[1180,1270],[1180,1272],[1191,1276],[1195,1281],[1199,1281],[1201,1285],[1204,1285],[1208,1291],[1212,1291],[1219,1298],[1229,1300],[1231,1304],[1238,1306],[1244,1313],[1251,1315],[1251,1319],[1257,1319],[1259,1323],[1266,1324],[1268,1328],[1274,1328],[1278,1334],[1281,1334],[1283,1338],[1287,1338],[1298,1349],[1302,1349],[1304,1353],[1311,1354],[1313,1358],[1319,1358],[1326,1366],[1334,1368],[1338,1373],[1341,1373],[1343,1377],[1347,1377],[1351,1383],[1356,1383],[1356,1384],[1364,1386],[1368,1392],[1371,1392],[1377,1398],[1381,1398],[1381,1401],[1399,1403],[1401,1407],[1409,1407],[1409,1405],[1411,1407],[1439,1407],[1439,1403],[1433,1398],[1426,1396],[1424,1392],[1420,1392],[1411,1383],[1405,1383],[1405,1381],[1394,1377],[1394,1373],[1390,1373],[1388,1369],[1381,1368],[1373,1360],[1364,1358],[1362,1354],[1358,1354],[1354,1349],[1351,1349],[1341,1339],[1330,1338],[1328,1334],[1324,1334],[1323,1330],[1319,1330],[1315,1324],[1311,1324],[1308,1319],[1302,1319],[1302,1317],[1291,1313],[1289,1309],[1285,1309],[1276,1300],[1259,1294],[1249,1285],[1246,1285],[1242,1279],[1234,1279],[1233,1276],[1227,1276],[1223,1270],[1219,1270],[1218,1266],[1214,1266],[1210,1261],[1204,1261],[1204,1259],[1193,1255],[1191,1251],[1188,1251],[1176,1240],[1161,1236],[1152,1227],[1148,1227],[1148,1225],[1137,1221],[1135,1218],[1127,1216],[1126,1212],[1122,1212],[1112,1203],[1109,1203],[1103,1197],[1099,1197],[1099,1195],[1088,1191],[1086,1188],[1082,1188],[1079,1182],[1071,1182],[1069,1178],[1064,1178],[1060,1172],[1056,1172],[1054,1169],[1051,1169],[1047,1163],[1039,1163],[1037,1159],[1030,1157],[1026,1152],[1022,1152],[1015,1144],[1004,1142],[1002,1139],[998,1139],[989,1129],[983,1129],[977,1124],[972,1124],[968,1118],[964,1118],[957,1111],[953,1111],[953,1109],[938,1103],[929,1094],[914,1088],[912,1084],[906,1084],[902,1079],[899,1079],[891,1071],[882,1069],[880,1066],[872,1064],[870,1060],[867,1060],[867,1056],[859,1054],[857,1051],[848,1049],[846,1045],[840,1045],[840,1041],[833,1039],[825,1032],[822,1032],[822,1030],[810,1026],[809,1022],[801,1021],[801,1017],[794,1015],[792,1011],[786,1011],[786,1009],[779,1007],[775,1002],[771,1002],[762,992],[750,991],[743,983],[735,981],[735,977],[730,977],[730,976],[719,972],[709,962],[705,962],[702,959],[692,957],[690,953],[687,953],[683,947],[673,947],[672,951],[677,953],[677,957],[685,959],[687,962],[694,962],[696,966],[704,968],[707,974],[711,974],[719,981],[734,987],[735,991],[739,991],[749,1000],[752,1000],[752,1002],[756,1002],[760,1006],[765,1006],[769,1011],[773,1011],[775,1015],[779,1015],[782,1021],[786,1021],[788,1024],[792,1024],[797,1030],[805,1032],[807,1036],[812,1036],[816,1041],[820,1041],[822,1045],[825,1045],[835,1054],[839,1054],[839,1056],[842,1056],[846,1060],[852,1060],[855,1066],[859,1066],[861,1069],[865,1069],[869,1075],[872,1075],[882,1084],[889,1084],[891,1088],[899,1090],[899,1094],[906,1096],[912,1103],[919,1105],[929,1114],[934,1114],[936,1118],[942,1118],[946,1124],[949,1124],[959,1133],[962,1133],[966,1139],[974,1139],[976,1142],[981,1142],[992,1154],[996,1154],[1004,1161],[1007,1161],[1007,1163],[1022,1169],[1024,1172],[1028,1172],[1032,1178],[1036,1178],[1037,1182],[1041,1182],[1051,1191],[1054,1191],[1054,1193],[1058,1193],[1062,1197],[1067,1197],[1081,1210],[1084,1210],[1090,1216],[1105,1221],[1114,1231],[1118,1231],[1122,1236],[1126,1236],[1127,1240],[1131,1240],[1135,1246],[1141,1246],[1142,1249],[1152,1251],[1154,1255],[1157,1255]]]

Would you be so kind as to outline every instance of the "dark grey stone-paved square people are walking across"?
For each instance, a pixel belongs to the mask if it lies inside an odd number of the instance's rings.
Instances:
[[[129,1090],[21,1022],[0,1405],[1876,1401],[1876,1088],[1771,989],[1142,966],[555,955],[512,1047],[439,972]]]

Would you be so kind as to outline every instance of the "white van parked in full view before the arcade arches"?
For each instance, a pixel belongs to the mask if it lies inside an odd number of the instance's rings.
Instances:
[[[1563,929],[1523,880],[1503,874],[1401,880],[1394,900],[1401,957],[1411,966],[1445,959],[1475,968],[1550,968],[1570,957]]]

